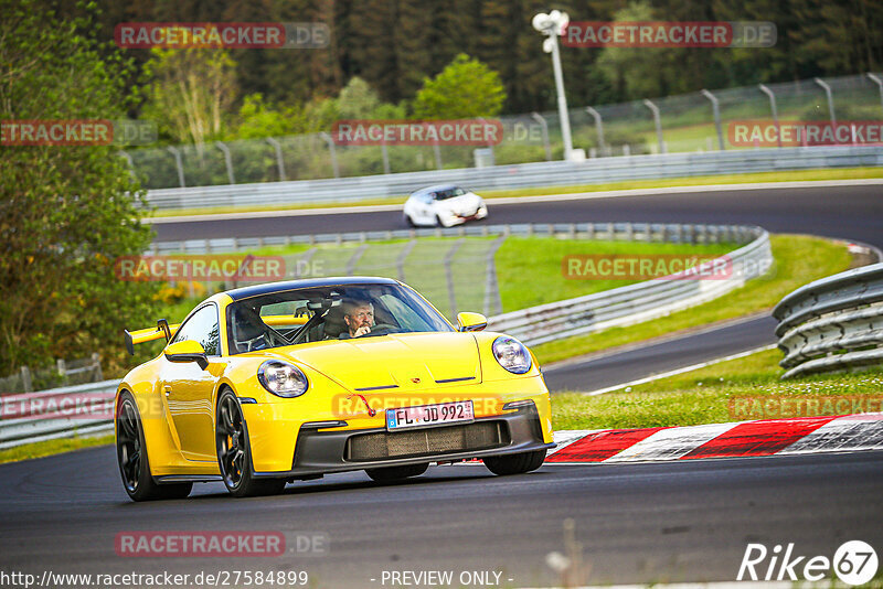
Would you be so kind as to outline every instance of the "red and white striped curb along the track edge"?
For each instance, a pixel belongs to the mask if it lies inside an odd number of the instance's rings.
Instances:
[[[655,462],[702,458],[883,450],[883,414],[641,429],[556,431],[546,463]]]

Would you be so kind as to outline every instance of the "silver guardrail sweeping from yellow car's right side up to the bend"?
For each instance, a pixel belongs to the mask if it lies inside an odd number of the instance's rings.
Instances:
[[[759,227],[751,231],[754,240],[728,255],[733,272],[727,278],[648,280],[489,318],[488,329],[536,345],[648,321],[715,299],[772,268],[769,235]]]

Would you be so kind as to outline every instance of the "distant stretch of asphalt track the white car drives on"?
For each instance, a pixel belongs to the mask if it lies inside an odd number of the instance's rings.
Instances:
[[[553,189],[550,189],[553,191]],[[883,247],[883,185],[724,190],[543,203],[489,203],[487,223],[721,223],[760,225]],[[398,211],[153,225],[160,242],[403,228]]]

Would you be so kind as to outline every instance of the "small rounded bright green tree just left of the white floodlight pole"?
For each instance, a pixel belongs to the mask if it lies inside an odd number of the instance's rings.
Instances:
[[[418,119],[494,117],[506,90],[497,72],[460,53],[433,79],[425,78],[414,99]]]

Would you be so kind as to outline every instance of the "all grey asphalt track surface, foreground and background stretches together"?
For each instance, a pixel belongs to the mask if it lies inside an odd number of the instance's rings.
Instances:
[[[880,247],[881,192],[869,185],[491,204],[489,222],[757,224]],[[398,227],[397,212],[155,226],[161,240]],[[560,364],[546,378],[553,389],[602,388],[772,343],[773,326],[770,318],[755,318]],[[386,485],[361,472],[330,475],[247,500],[209,483],[188,500],[135,504],[123,490],[114,450],[97,448],[0,465],[0,568],[38,576],[305,570],[318,587],[391,587],[381,582],[384,570],[450,570],[455,579],[462,571],[494,571],[506,587],[549,586],[561,579],[545,557],[566,551],[563,522],[573,518],[591,566],[582,582],[732,581],[748,543],[769,549],[795,543],[795,554],[807,558],[831,558],[850,539],[883,545],[881,459],[883,452],[869,451],[546,464],[510,478],[470,464]],[[281,532],[291,549],[298,534],[323,534],[329,544],[322,554],[279,558],[127,558],[115,551],[121,532],[206,529]]]

